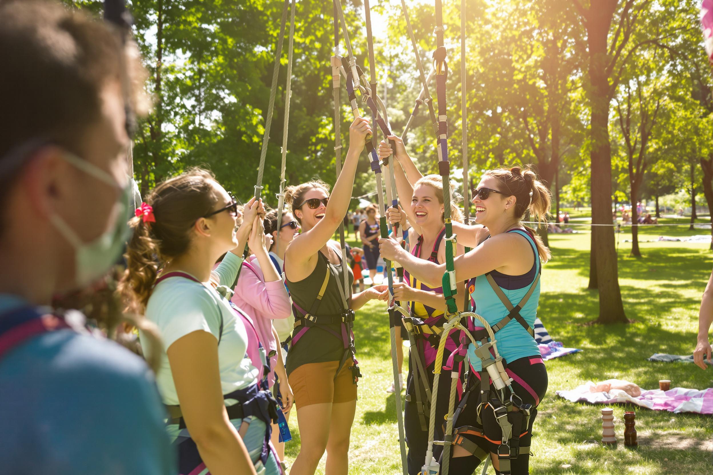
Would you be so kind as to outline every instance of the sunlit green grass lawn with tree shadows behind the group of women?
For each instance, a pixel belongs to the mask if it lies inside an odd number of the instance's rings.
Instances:
[[[643,239],[670,231],[651,228]],[[679,229],[677,235],[708,234],[709,230]],[[349,236],[354,241],[354,235]],[[713,386],[713,369],[702,371],[686,363],[648,362],[653,353],[692,353],[702,291],[712,268],[708,244],[642,243],[644,257],[629,257],[630,234],[619,236],[619,272],[629,325],[585,325],[597,318],[596,291],[588,291],[590,234],[550,235],[553,261],[542,276],[538,315],[550,335],[565,346],[584,351],[546,362],[548,395],[535,421],[531,474],[699,474],[712,469],[713,418],[672,414],[638,407],[614,407],[620,441],[606,449],[600,440],[602,406],[573,404],[555,395],[588,381],[612,377],[657,388],[658,380],[672,387],[704,389]],[[369,303],[356,315],[357,357],[364,378],[352,427],[350,474],[399,474],[401,459],[396,429],[394,395],[384,389],[392,380],[389,328],[384,303]],[[404,393],[401,393],[403,397]],[[636,410],[639,449],[623,447],[623,415]],[[299,451],[297,417],[292,412],[293,441],[287,444],[287,463]],[[324,474],[324,459],[317,473]],[[476,473],[480,474],[478,470]],[[493,469],[489,472],[493,474]],[[460,474],[458,474],[460,475]]]

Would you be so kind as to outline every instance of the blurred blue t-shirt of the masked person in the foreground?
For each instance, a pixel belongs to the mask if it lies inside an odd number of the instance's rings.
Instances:
[[[0,360],[2,473],[175,475],[164,419],[153,374],[113,341],[57,330]]]

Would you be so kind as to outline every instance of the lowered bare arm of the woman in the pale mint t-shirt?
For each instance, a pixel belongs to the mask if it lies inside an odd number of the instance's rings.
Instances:
[[[245,444],[225,411],[217,348],[215,336],[203,330],[168,347],[181,412],[211,474],[255,474]]]

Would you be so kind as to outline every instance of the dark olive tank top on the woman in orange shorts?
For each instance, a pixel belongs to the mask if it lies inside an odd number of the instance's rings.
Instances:
[[[342,254],[339,252],[337,252],[337,254],[339,255],[339,259],[342,259]],[[285,266],[287,267],[287,263],[285,263]],[[289,296],[292,297],[292,301],[297,303],[300,308],[309,311],[314,301],[317,300],[319,288],[322,287],[322,283],[324,282],[324,274],[327,272],[327,268],[329,268],[329,272],[332,275],[329,276],[327,291],[324,291],[322,303],[319,304],[319,309],[315,315],[336,315],[337,313],[341,313],[344,304],[342,303],[342,295],[337,286],[343,285],[344,283],[342,267],[342,263],[335,265],[329,262],[327,256],[324,256],[322,251],[319,251],[317,253],[317,265],[314,266],[314,271],[312,271],[309,276],[299,282],[291,282],[285,278]],[[352,288],[352,283],[354,283],[354,273],[349,266],[346,266],[346,268],[349,272],[348,293],[349,289]],[[327,326],[337,333],[342,333],[342,325],[339,323],[333,323]],[[292,338],[294,338],[295,334],[293,331]],[[322,328],[312,327],[299,337],[299,341],[296,345],[289,349],[285,370],[287,371],[287,375],[289,375],[297,367],[307,363],[341,361],[342,355],[344,355],[344,345],[342,341],[337,340],[331,333],[322,330]]]

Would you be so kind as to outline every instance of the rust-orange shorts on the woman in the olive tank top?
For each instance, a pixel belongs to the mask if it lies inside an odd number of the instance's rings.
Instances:
[[[322,402],[349,402],[356,400],[356,385],[352,381],[354,361],[347,360],[337,372],[339,361],[307,363],[295,368],[289,374],[289,385],[292,387],[294,404],[297,409],[310,404]]]

